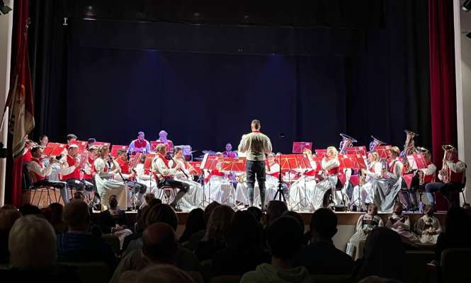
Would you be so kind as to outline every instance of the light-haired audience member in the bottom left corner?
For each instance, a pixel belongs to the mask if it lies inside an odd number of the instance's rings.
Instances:
[[[79,282],[72,272],[56,266],[56,235],[42,216],[28,215],[15,221],[8,238],[11,268],[0,278],[15,282]]]

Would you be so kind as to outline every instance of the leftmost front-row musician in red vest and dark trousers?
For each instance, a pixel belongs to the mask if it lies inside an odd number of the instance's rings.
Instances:
[[[69,197],[67,196],[67,183],[60,181],[50,181],[49,175],[52,172],[52,164],[59,163],[59,161],[54,158],[49,158],[49,165],[44,166],[40,160],[42,156],[42,149],[40,147],[33,147],[31,149],[31,162],[28,164],[28,172],[31,176],[31,182],[33,187],[55,187],[60,190],[60,196],[64,200],[64,203],[69,202]]]

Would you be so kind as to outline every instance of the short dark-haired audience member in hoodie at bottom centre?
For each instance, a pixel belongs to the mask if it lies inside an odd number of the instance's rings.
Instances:
[[[271,264],[262,263],[256,270],[246,272],[241,283],[311,282],[306,267],[293,265],[301,241],[302,231],[293,217],[282,216],[272,221],[266,233]]]

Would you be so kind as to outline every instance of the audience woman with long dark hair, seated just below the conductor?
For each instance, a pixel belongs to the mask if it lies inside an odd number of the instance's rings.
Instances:
[[[218,251],[212,262],[214,275],[243,275],[255,270],[270,256],[262,250],[261,226],[251,212],[239,211],[227,231],[227,248]]]

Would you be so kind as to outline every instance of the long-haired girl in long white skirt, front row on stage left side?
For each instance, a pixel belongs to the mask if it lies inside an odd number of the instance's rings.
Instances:
[[[108,146],[98,147],[97,158],[93,166],[95,167],[96,190],[101,198],[102,209],[109,207],[109,198],[112,195],[118,197],[118,207],[127,209],[127,187],[123,180],[114,180],[115,175],[120,171],[120,166],[109,158],[110,149]],[[105,158],[107,161],[105,161]]]

